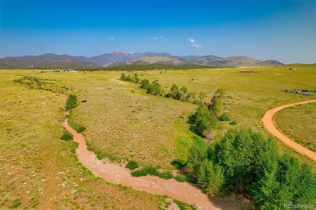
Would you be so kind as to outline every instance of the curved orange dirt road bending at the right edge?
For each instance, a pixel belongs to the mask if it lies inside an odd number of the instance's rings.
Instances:
[[[273,116],[275,113],[283,108],[293,106],[293,105],[301,105],[301,104],[308,104],[308,103],[313,103],[316,102],[316,100],[310,100],[310,101],[304,101],[304,102],[297,102],[293,104],[288,104],[288,105],[281,105],[276,108],[270,109],[265,113],[265,115],[262,118],[262,122],[264,126],[267,128],[267,130],[274,136],[276,136],[277,139],[281,140],[283,143],[286,145],[292,147],[296,151],[310,157],[314,161],[316,161],[316,152],[302,146],[299,143],[296,143],[294,140],[291,140],[290,138],[284,136],[279,130],[276,129],[276,126],[273,122]]]

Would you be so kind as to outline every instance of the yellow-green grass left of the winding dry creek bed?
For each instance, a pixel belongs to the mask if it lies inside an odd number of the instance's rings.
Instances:
[[[67,96],[13,82],[20,75],[57,75],[39,72],[0,73],[0,209],[147,210],[163,205],[165,197],[106,182],[78,163],[77,143],[59,139]],[[63,89],[60,79],[46,86]]]

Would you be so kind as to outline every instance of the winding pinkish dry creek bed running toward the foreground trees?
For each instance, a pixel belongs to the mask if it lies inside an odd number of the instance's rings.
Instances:
[[[195,184],[178,182],[175,179],[161,179],[157,176],[133,177],[129,169],[98,160],[96,154],[87,150],[86,142],[81,134],[78,134],[68,125],[68,119],[63,126],[74,135],[74,140],[79,143],[76,149],[79,162],[88,168],[94,175],[104,178],[107,181],[130,186],[133,189],[144,190],[153,194],[168,195],[176,200],[196,205],[201,210],[251,210],[252,205],[244,198],[230,196],[225,199],[209,199],[197,188]]]

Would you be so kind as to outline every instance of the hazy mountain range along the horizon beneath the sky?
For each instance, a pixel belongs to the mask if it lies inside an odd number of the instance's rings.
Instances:
[[[84,56],[56,55],[5,57],[0,59],[0,69],[93,69],[111,66],[145,64],[200,64],[206,66],[280,66],[276,60],[257,61],[246,56],[220,58],[217,56],[173,56],[168,53],[126,53],[113,51],[91,58]]]

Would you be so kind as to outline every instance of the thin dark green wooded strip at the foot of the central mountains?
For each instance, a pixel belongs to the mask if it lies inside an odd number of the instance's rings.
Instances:
[[[184,64],[184,65],[168,65],[168,64],[146,64],[146,65],[131,65],[131,66],[116,66],[106,68],[86,69],[89,71],[135,71],[135,70],[187,70],[187,69],[216,69],[219,67],[204,66],[198,64]],[[226,68],[226,67],[220,67]],[[231,67],[230,67],[231,68]]]

